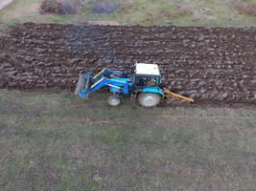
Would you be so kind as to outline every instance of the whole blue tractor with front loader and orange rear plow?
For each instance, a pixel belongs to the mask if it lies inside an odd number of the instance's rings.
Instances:
[[[155,107],[164,97],[182,99],[194,102],[192,98],[179,96],[166,88],[160,87],[161,74],[156,64],[136,63],[135,72],[127,76],[122,72],[104,69],[99,74],[82,73],[80,75],[75,95],[85,98],[90,93],[109,87],[112,96],[107,98],[110,106],[118,106],[123,95],[130,95],[130,100],[146,108]]]

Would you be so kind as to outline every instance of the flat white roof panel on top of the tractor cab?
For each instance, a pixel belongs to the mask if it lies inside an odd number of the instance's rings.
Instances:
[[[136,63],[136,74],[160,75],[157,64]]]

